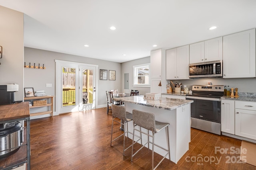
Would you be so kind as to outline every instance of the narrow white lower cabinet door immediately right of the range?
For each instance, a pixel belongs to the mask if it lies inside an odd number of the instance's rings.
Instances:
[[[235,134],[235,101],[221,100],[221,131]]]

